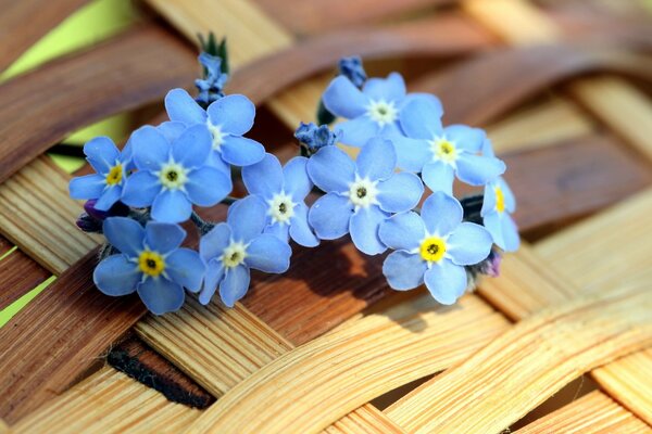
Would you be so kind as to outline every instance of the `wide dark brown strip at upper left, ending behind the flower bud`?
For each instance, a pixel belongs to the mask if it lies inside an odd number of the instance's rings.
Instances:
[[[196,73],[195,52],[150,25],[1,85],[0,182],[72,131],[161,100]]]

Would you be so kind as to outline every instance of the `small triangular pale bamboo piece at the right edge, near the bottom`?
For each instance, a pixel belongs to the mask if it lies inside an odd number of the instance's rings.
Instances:
[[[595,369],[592,375],[611,396],[652,425],[652,348]]]

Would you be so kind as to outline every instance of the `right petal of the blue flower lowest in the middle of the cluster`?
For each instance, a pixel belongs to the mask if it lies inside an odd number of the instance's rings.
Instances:
[[[291,254],[292,250],[287,242],[271,233],[263,233],[251,240],[244,264],[264,272],[286,272],[290,268]]]

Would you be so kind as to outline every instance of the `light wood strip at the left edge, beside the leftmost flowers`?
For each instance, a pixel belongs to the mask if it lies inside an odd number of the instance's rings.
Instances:
[[[54,275],[99,244],[82,232],[82,212],[67,192],[67,176],[40,156],[0,184],[0,232]]]

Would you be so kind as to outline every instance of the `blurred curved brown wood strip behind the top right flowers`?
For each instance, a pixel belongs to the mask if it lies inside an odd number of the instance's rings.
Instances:
[[[443,74],[425,76],[411,88],[437,94],[449,124],[486,125],[528,98],[588,73],[622,74],[650,84],[652,61],[569,44],[509,48],[473,58]]]

